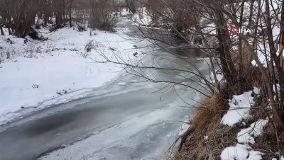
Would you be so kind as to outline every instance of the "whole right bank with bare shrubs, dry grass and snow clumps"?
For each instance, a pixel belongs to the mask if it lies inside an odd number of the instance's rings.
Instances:
[[[212,74],[203,82],[211,98],[190,120],[175,159],[280,159],[283,1],[156,1],[149,6],[168,34],[200,46],[210,59]]]

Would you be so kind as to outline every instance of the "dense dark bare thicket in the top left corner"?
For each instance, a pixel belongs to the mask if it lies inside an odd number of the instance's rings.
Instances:
[[[42,19],[43,25],[47,25],[53,17],[56,24],[67,21],[74,2],[75,0],[1,0],[1,25],[8,28],[10,35],[24,38],[33,30],[31,27],[35,25],[35,17]]]

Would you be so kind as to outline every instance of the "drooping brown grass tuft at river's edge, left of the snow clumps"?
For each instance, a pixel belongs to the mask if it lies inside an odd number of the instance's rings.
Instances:
[[[229,108],[227,101],[220,95],[212,98],[200,106],[197,115],[191,121],[191,127],[182,136],[182,147],[174,159],[219,159],[219,154],[223,146],[224,130],[231,130],[226,126],[220,126],[224,108]],[[204,137],[207,137],[204,139]],[[235,135],[226,135],[233,137]],[[233,138],[231,138],[233,139]],[[184,142],[183,142],[184,141]],[[231,143],[231,142],[230,142]]]

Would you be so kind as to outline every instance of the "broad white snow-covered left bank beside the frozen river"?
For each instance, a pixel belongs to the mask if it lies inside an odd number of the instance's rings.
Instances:
[[[114,79],[121,66],[96,62],[102,60],[99,53],[116,58],[119,52],[124,61],[142,57],[133,56],[140,52],[131,40],[123,38],[125,30],[119,28],[116,33],[40,29],[46,41],[15,38],[5,32],[0,36],[0,125],[21,115],[19,110],[80,98]],[[87,44],[92,44],[91,52],[87,52]]]

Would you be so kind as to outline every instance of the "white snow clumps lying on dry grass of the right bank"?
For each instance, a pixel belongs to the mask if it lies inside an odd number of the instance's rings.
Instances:
[[[259,94],[258,88],[254,87],[253,91],[245,92],[241,95],[235,95],[229,100],[229,110],[222,118],[222,124],[233,126],[237,122],[250,118],[250,108],[254,104],[251,93]],[[244,122],[243,122],[244,123]],[[245,124],[245,123],[244,123]],[[221,153],[222,160],[261,160],[262,152],[255,151],[249,144],[255,144],[255,137],[258,137],[263,132],[263,127],[268,124],[268,119],[257,120],[249,127],[241,129],[236,135],[236,146],[226,147]]]

